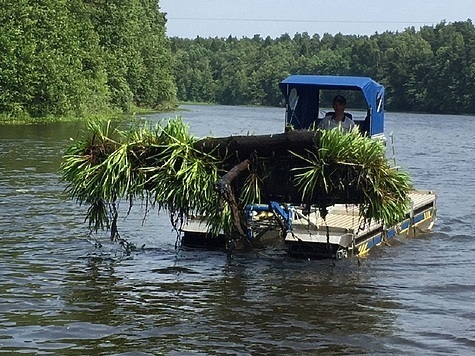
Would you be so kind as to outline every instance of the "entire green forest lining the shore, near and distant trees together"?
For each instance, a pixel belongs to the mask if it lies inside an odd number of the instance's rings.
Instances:
[[[393,111],[475,113],[471,20],[372,36],[167,38],[157,0],[0,0],[0,117],[282,105],[291,73],[370,76]]]

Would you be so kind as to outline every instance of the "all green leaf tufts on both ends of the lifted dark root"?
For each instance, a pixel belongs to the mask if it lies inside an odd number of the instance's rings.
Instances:
[[[231,236],[236,228],[233,207],[216,190],[216,182],[226,173],[224,161],[218,153],[198,151],[196,142],[181,119],[155,126],[136,122],[127,130],[110,122],[89,122],[64,155],[61,171],[68,184],[66,193],[88,206],[86,219],[92,229],[110,229],[113,239],[119,239],[116,206],[122,200],[130,206],[140,200],[168,211],[176,229],[187,216],[203,217],[212,234]],[[359,195],[365,220],[392,224],[404,217],[409,176],[389,166],[381,142],[357,130],[322,131],[315,149],[289,155],[304,162],[293,169],[303,201],[319,192],[329,197]],[[262,202],[262,182],[272,169],[268,157],[250,166],[237,189],[241,213],[247,204]]]

